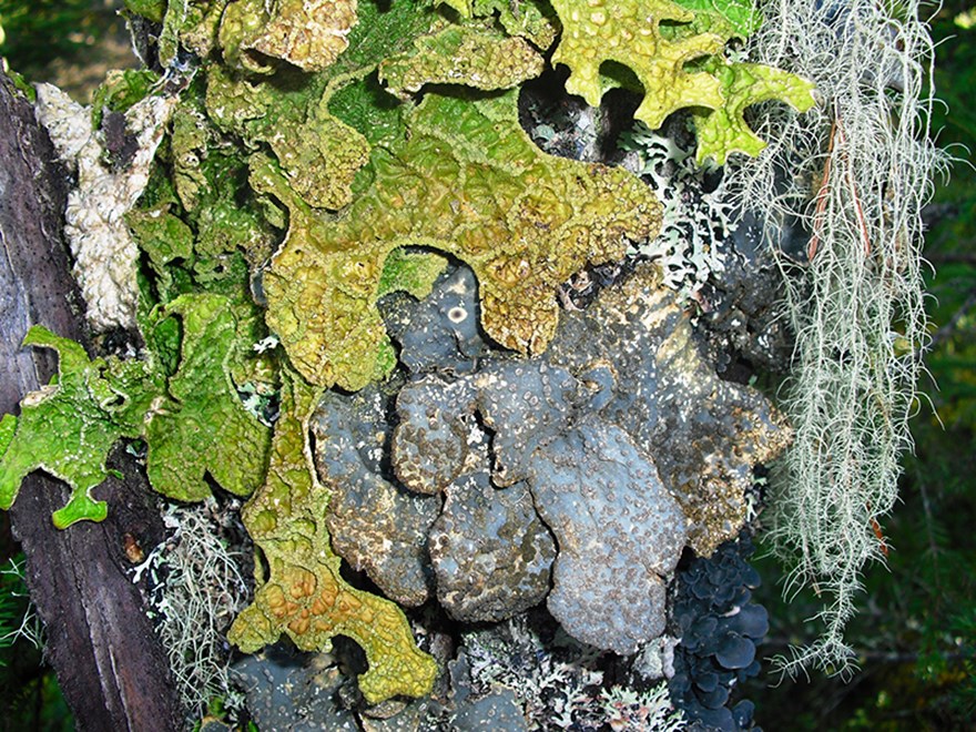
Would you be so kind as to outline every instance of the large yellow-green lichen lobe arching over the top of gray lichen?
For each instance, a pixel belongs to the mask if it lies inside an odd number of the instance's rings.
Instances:
[[[545,349],[556,287],[588,264],[619,258],[624,236],[657,234],[660,206],[620,169],[541,153],[518,124],[517,94],[470,101],[430,93],[407,139],[373,150],[373,183],[336,220],[315,215],[272,161],[252,185],[291,211],[265,274],[267,322],[309,380],[359,389],[392,365],[376,297],[384,263],[429,246],[471,266],[482,325],[499,344]]]

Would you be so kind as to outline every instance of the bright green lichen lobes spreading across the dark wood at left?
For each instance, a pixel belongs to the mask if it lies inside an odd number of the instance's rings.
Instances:
[[[165,325],[174,316],[182,322],[179,362],[176,336]],[[108,506],[91,490],[108,477],[105,457],[121,438],[145,439],[150,482],[173,498],[210,496],[205,475],[238,495],[260,484],[270,434],[241,404],[230,376],[234,352],[250,343],[247,317],[225,297],[185,295],[154,318],[146,340],[161,353],[144,359],[92,360],[73,340],[41,327],[28,333],[24,345],[58,352],[59,376],[21,401],[0,458],[0,508],[10,508],[23,478],[42,469],[71,488],[54,512],[58,528],[101,521]]]

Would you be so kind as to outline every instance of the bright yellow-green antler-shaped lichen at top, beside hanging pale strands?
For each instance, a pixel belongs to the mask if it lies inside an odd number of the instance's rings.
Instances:
[[[627,83],[644,96],[634,118],[657,129],[691,108],[699,133],[698,162],[720,165],[733,152],[758,155],[765,143],[743,111],[780,100],[797,111],[814,104],[813,85],[789,72],[726,61],[725,43],[754,33],[762,21],[749,0],[553,0],[563,30],[553,63],[570,68],[566,88],[597,105]],[[628,73],[620,74],[619,67]]]

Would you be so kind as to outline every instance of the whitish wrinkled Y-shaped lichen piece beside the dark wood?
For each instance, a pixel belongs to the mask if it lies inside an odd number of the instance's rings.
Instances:
[[[37,90],[38,121],[47,128],[61,160],[78,171],[64,210],[64,233],[88,322],[99,332],[134,327],[139,251],[124,215],[149,182],[150,165],[176,100],[149,96],[125,114],[136,150],[129,164],[113,171],[104,160],[101,135],[92,129],[91,110],[52,84],[38,84]]]

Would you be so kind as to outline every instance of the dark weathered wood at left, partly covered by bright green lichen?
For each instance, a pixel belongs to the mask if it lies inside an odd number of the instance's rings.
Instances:
[[[61,233],[67,183],[31,105],[0,74],[0,413],[16,413],[21,396],[55,372],[52,354],[20,347],[31,325],[90,345]],[[95,489],[110,505],[105,521],[58,531],[51,512],[67,487],[35,472],[11,509],[13,531],[78,728],[176,730],[180,702],[123,549],[126,533],[151,547],[163,527],[133,458],[116,450],[111,464],[123,477]]]

